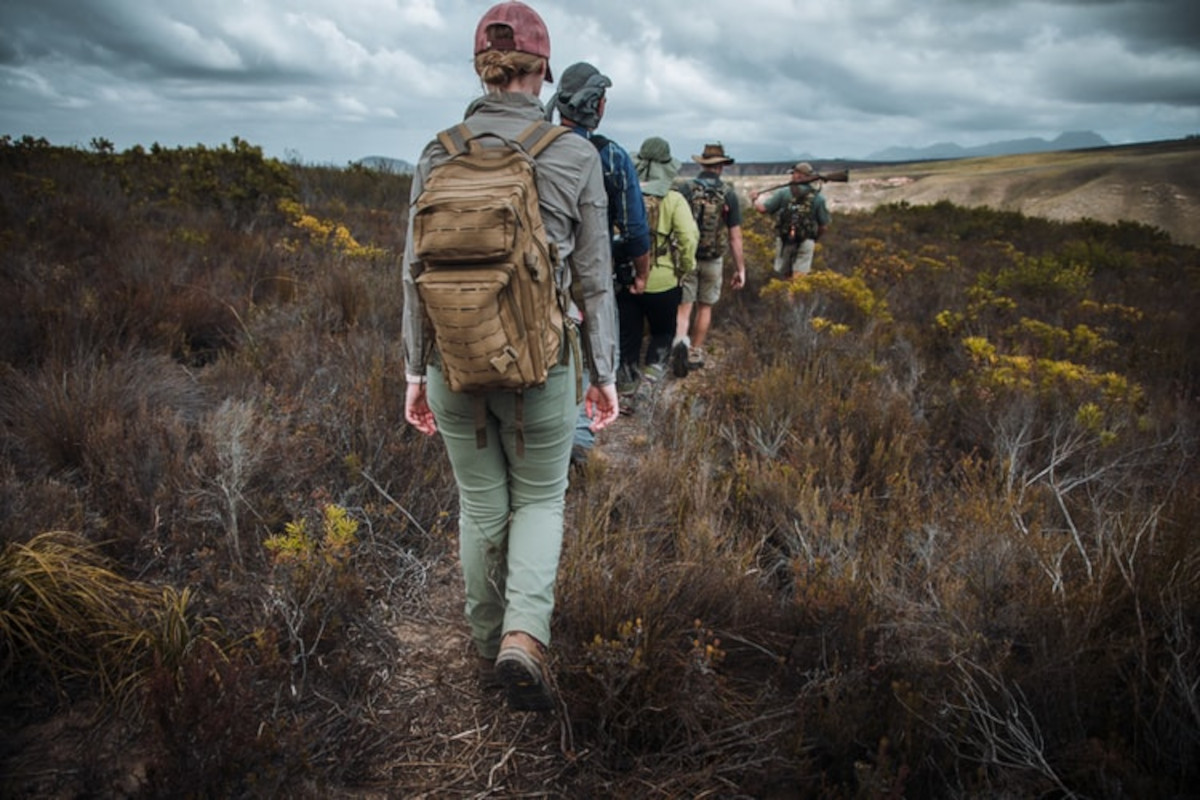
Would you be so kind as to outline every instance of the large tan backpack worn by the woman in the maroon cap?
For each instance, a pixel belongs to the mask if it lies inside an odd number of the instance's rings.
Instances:
[[[546,381],[564,335],[557,248],[547,243],[534,158],[566,128],[534,122],[514,142],[460,124],[413,212],[416,289],[450,389]]]

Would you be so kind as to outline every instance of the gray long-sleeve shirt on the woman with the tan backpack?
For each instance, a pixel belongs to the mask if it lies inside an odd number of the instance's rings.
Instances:
[[[474,101],[466,114],[472,131],[494,132],[516,138],[529,122],[545,118],[545,110],[533,95],[517,92],[488,94]],[[434,139],[426,145],[413,175],[412,200],[425,186],[430,170],[445,161],[445,149]],[[612,287],[612,254],[608,235],[608,198],[605,193],[600,157],[582,137],[556,139],[538,156],[538,199],[546,237],[558,246],[564,270],[563,289],[583,307],[590,380],[598,386],[616,381],[616,297]],[[408,219],[404,247],[404,357],[410,378],[425,374],[428,347],[421,297],[413,276],[413,217]],[[574,289],[571,289],[571,284]]]

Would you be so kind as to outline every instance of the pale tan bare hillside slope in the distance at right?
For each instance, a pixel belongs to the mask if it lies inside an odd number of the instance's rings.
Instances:
[[[744,191],[785,176],[734,179]],[[1200,245],[1200,139],[1060,152],[881,164],[828,184],[835,211],[949,200],[1028,216],[1139,222]]]

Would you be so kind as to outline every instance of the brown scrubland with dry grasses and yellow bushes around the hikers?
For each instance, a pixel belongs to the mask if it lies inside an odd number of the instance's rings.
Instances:
[[[751,215],[713,368],[572,477],[547,722],[403,634],[463,625],[407,198],[0,140],[0,793],[1193,790],[1195,248],[893,205],[782,282]]]

